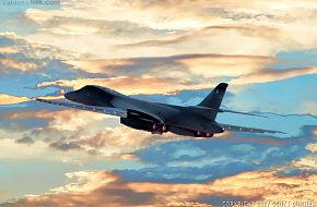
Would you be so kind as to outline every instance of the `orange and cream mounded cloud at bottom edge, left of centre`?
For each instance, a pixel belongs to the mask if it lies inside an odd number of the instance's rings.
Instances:
[[[68,203],[68,206],[97,207],[104,206],[105,200],[111,206],[141,206],[150,205],[154,199],[153,193],[138,193],[118,176],[107,172],[75,172],[69,173],[68,178],[74,180],[74,183],[55,188],[56,194],[47,195],[46,198],[28,197],[9,206],[63,206]]]

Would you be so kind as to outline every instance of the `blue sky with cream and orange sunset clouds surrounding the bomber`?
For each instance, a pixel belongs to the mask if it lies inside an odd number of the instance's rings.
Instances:
[[[0,207],[317,204],[317,2],[0,1]],[[285,134],[201,139],[36,102],[94,84]],[[297,202],[297,203],[296,203]],[[306,203],[305,203],[306,202]]]

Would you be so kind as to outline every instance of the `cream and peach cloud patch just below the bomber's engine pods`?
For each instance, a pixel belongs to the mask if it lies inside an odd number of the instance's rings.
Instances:
[[[106,127],[92,135],[62,137],[50,147],[63,151],[83,150],[90,155],[104,157],[134,158],[133,151],[153,146],[166,138],[157,138],[150,133],[134,131],[125,126]],[[125,147],[122,147],[125,146]]]

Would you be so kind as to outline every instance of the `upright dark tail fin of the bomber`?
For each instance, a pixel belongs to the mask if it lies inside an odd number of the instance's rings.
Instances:
[[[225,94],[226,87],[227,87],[226,83],[219,84],[198,106],[219,109],[223,96]]]

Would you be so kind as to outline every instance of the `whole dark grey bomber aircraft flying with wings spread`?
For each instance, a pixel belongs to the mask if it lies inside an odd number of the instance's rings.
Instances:
[[[120,117],[120,123],[153,134],[172,132],[185,136],[212,137],[213,134],[223,133],[224,131],[281,133],[218,123],[215,118],[219,112],[258,115],[220,109],[226,87],[226,83],[219,84],[198,106],[190,107],[149,102],[95,85],[87,85],[79,90],[66,93],[67,100],[46,100],[40,98],[36,100]]]

